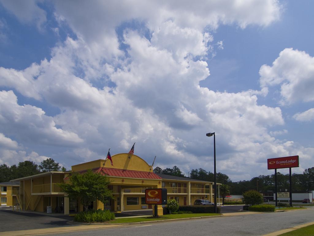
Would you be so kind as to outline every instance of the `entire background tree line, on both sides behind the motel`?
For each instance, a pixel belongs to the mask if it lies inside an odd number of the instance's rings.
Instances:
[[[47,171],[66,171],[58,162],[51,158],[43,160],[40,165],[33,161],[19,162],[18,165],[7,166],[0,165],[0,183],[7,182],[12,179],[22,178],[25,176],[35,175]],[[184,177],[184,174],[179,167],[161,169],[154,168],[154,173]],[[192,169],[189,173],[189,178],[214,182],[214,173],[206,171],[202,168]],[[230,194],[242,194],[248,190],[254,189],[259,192],[275,191],[275,175],[260,175],[251,180],[243,180],[232,182],[228,175],[221,172],[216,173],[217,183],[230,186]],[[277,172],[277,190],[285,191],[289,189],[289,174],[282,174]],[[302,174],[292,174],[292,191],[306,192],[314,190],[314,167],[306,169]]]

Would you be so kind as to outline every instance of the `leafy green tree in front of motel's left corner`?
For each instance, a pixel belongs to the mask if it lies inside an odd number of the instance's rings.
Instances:
[[[93,201],[100,200],[105,203],[112,198],[112,191],[108,189],[109,178],[100,173],[88,170],[84,174],[73,173],[69,179],[69,184],[61,183],[59,186],[67,197],[80,200],[84,211],[88,210]]]

